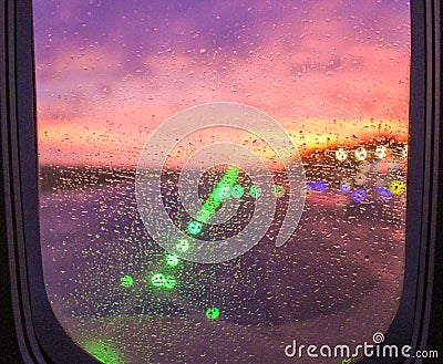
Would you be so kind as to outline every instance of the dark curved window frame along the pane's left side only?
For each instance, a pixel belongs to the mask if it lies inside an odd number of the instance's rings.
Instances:
[[[55,319],[44,288],[39,227],[32,1],[3,1],[1,144],[13,320],[24,363],[99,363]],[[3,87],[4,85],[4,87]],[[4,101],[4,102],[3,102]],[[56,340],[54,340],[56,339]]]

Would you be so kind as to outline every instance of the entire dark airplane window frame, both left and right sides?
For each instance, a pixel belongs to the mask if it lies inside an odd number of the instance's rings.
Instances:
[[[406,256],[403,294],[384,344],[424,350],[432,301],[439,194],[440,3],[411,1],[411,96]],[[2,188],[9,325],[24,363],[99,363],[63,331],[43,280],[39,227],[39,173],[31,0],[0,3]],[[440,181],[441,184],[441,181]],[[3,250],[1,250],[3,252]],[[4,299],[4,302],[8,301]],[[3,301],[1,301],[3,302]],[[414,314],[411,314],[413,312]],[[54,340],[56,339],[56,340]],[[12,354],[11,354],[12,355]],[[13,354],[16,355],[16,354]],[[361,363],[370,363],[364,358]],[[392,361],[394,362],[394,361]],[[387,361],[388,363],[388,361]]]

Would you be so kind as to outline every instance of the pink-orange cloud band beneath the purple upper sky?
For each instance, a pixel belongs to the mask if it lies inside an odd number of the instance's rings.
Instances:
[[[373,11],[371,2],[362,7]],[[259,43],[245,44],[243,54],[165,46],[137,54],[134,69],[115,42],[80,50],[66,45],[50,63],[38,58],[41,163],[135,165],[163,121],[210,101],[258,107],[289,132],[302,129],[311,147],[350,131],[367,135],[379,123],[406,134],[409,43],[387,38],[392,24],[404,38],[404,13],[391,12],[391,22],[383,14],[377,29],[361,30],[337,11],[337,6],[312,6],[306,21],[281,20],[262,31]],[[187,27],[177,22],[173,29]]]

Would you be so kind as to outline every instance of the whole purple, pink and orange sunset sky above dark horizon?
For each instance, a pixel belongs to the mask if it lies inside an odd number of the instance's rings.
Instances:
[[[34,28],[42,165],[135,166],[162,122],[212,101],[298,146],[408,135],[409,1],[35,0]]]

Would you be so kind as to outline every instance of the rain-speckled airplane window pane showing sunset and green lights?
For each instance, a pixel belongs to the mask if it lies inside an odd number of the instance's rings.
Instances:
[[[409,1],[33,12],[44,281],[79,346],[102,363],[286,363],[293,340],[387,332]]]

